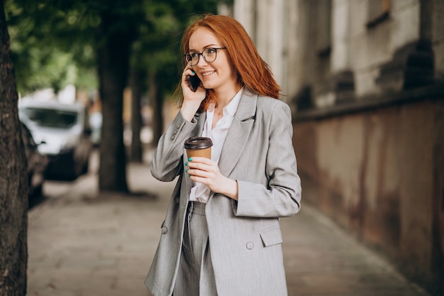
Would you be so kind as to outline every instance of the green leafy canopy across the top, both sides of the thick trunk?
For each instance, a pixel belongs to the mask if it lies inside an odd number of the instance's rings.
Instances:
[[[128,41],[122,42],[133,43],[131,65],[163,72],[169,78],[162,88],[172,89],[182,59],[182,31],[196,13],[216,13],[217,2],[6,0],[18,90],[26,94],[67,84],[95,89],[97,48],[113,32],[123,32]],[[101,18],[105,15],[109,18]],[[103,22],[106,33],[99,31]]]

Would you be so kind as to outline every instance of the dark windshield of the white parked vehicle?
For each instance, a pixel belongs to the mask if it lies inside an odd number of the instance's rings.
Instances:
[[[77,123],[77,112],[58,109],[26,107],[21,112],[38,126],[70,128]]]

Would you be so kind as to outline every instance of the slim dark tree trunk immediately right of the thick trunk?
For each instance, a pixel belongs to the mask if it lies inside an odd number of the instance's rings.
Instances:
[[[142,143],[140,141],[140,129],[142,127],[142,116],[140,114],[140,99],[142,97],[140,87],[140,73],[136,67],[131,69],[131,161],[142,163]]]

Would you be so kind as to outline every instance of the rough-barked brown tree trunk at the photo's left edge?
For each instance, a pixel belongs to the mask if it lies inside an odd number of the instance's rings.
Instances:
[[[0,295],[26,295],[28,180],[4,1],[0,0]]]

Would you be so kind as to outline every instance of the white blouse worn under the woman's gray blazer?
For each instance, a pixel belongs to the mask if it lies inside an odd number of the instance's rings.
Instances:
[[[203,137],[211,138],[213,141],[213,146],[211,147],[211,160],[216,163],[219,162],[221,157],[221,151],[223,142],[228,133],[228,129],[233,122],[234,114],[238,110],[240,97],[242,97],[243,88],[239,90],[237,94],[233,97],[230,103],[223,108],[223,116],[216,123],[213,129],[213,118],[214,118],[214,108],[209,108],[206,111],[206,120],[204,124],[204,131],[202,131]],[[211,190],[206,185],[201,182],[193,182],[192,190],[189,194],[189,200],[194,202],[208,202]]]

